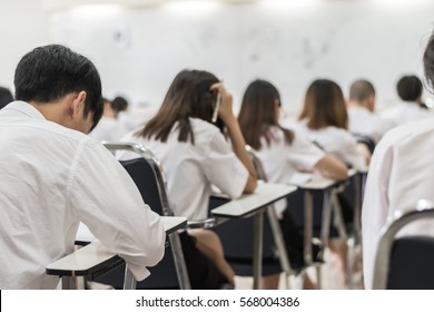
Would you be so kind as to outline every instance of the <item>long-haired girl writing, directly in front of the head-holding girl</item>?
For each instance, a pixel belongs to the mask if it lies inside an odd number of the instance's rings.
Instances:
[[[344,163],[325,154],[313,143],[282,127],[280,95],[275,86],[255,80],[247,87],[238,115],[246,143],[256,150],[268,182],[287,183],[297,170],[318,170],[334,179],[347,177]],[[303,233],[297,232],[290,215],[284,213],[286,199],[275,204],[294,269],[303,267]],[[289,224],[289,225],[288,225]],[[279,275],[263,279],[263,289],[277,289]],[[307,282],[308,276],[305,276]],[[305,284],[306,287],[312,286]]]

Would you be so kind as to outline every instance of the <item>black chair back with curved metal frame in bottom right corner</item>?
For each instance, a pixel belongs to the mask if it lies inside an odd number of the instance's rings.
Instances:
[[[374,289],[434,290],[434,237],[396,236],[407,224],[430,218],[434,218],[433,205],[420,201],[416,209],[397,215],[383,227],[375,259]]]

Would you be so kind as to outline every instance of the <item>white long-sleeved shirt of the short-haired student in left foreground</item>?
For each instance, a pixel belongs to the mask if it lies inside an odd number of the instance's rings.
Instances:
[[[14,101],[0,146],[0,289],[55,289],[46,266],[72,251],[80,221],[137,280],[161,260],[159,216],[100,143]]]

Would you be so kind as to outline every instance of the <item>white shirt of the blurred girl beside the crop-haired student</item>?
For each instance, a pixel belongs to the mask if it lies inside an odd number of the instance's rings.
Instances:
[[[364,154],[357,146],[357,140],[347,130],[333,126],[313,130],[307,127],[306,120],[302,120],[296,127],[310,142],[319,144],[326,153],[351,165],[356,170],[366,170]]]

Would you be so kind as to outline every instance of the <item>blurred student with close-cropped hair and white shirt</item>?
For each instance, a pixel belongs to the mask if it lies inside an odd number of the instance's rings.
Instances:
[[[347,103],[348,129],[353,134],[364,135],[373,139],[375,144],[383,135],[392,129],[395,124],[382,118],[374,113],[375,88],[367,80],[356,80],[349,87]]]

